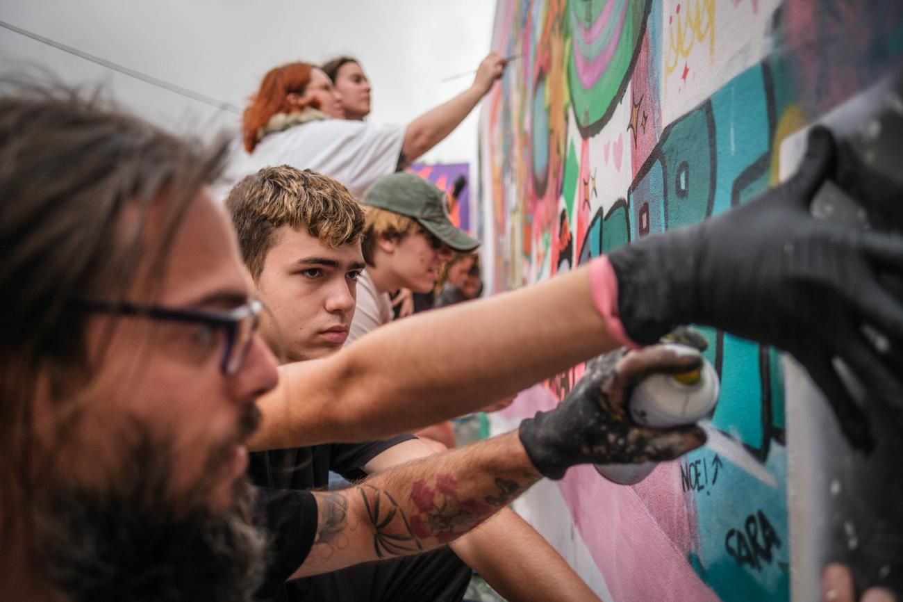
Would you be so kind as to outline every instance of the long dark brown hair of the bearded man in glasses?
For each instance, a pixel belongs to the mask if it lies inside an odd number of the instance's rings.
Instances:
[[[97,93],[9,80],[0,80],[0,90],[4,543],[14,529],[28,540],[27,509],[50,480],[40,475],[52,466],[52,451],[39,453],[34,433],[39,383],[53,410],[65,411],[61,401],[91,380],[85,316],[73,299],[123,296],[139,261],[152,266],[148,286],[156,287],[184,212],[218,176],[226,146],[167,134],[109,109]],[[152,204],[161,208],[162,235],[147,240],[142,234]]]

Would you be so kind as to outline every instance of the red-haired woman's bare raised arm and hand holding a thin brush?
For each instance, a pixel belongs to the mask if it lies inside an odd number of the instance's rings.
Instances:
[[[461,121],[470,115],[470,111],[486,96],[492,84],[501,77],[506,64],[507,61],[497,53],[490,53],[479,63],[477,75],[470,88],[409,123],[405,130],[399,169],[414,162],[417,157],[442,142],[455,127],[460,126]]]

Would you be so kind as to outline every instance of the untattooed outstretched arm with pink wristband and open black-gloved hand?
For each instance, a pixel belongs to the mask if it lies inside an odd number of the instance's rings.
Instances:
[[[410,432],[695,323],[793,353],[847,436],[868,447],[874,408],[903,424],[903,308],[889,285],[903,278],[903,240],[811,215],[832,157],[830,134],[815,129],[794,178],[731,212],[533,287],[386,325],[327,360],[284,366],[250,444]],[[864,384],[864,409],[846,373]]]

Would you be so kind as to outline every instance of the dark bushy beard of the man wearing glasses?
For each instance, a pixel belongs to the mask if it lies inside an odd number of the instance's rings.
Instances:
[[[48,585],[72,602],[253,600],[266,542],[254,526],[253,488],[240,479],[228,510],[212,510],[222,456],[214,453],[209,476],[174,501],[171,447],[140,439],[110,488],[61,486],[33,509],[34,560]]]

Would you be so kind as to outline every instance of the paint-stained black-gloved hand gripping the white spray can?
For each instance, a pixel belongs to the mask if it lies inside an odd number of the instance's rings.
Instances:
[[[586,373],[557,408],[520,423],[520,440],[536,469],[560,479],[578,464],[637,464],[671,460],[705,443],[695,426],[647,428],[629,417],[633,387],[656,372],[689,372],[702,355],[684,347],[654,345],[623,349],[587,362]]]

